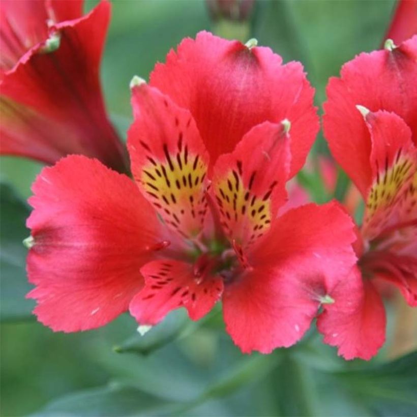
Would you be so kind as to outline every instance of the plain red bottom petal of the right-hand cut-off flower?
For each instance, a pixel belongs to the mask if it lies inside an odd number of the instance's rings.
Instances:
[[[362,281],[354,269],[332,292],[333,304],[326,304],[317,319],[324,343],[338,347],[345,359],[369,360],[385,341],[385,310],[369,280]]]

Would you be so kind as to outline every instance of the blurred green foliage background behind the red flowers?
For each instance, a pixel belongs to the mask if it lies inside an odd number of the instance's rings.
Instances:
[[[132,76],[147,78],[182,38],[220,26],[203,0],[112,3],[102,79],[109,113],[124,135]],[[95,4],[87,2],[86,10]],[[355,54],[379,47],[393,7],[378,0],[258,2],[248,38],[284,62],[301,61],[321,105],[327,79]],[[318,152],[325,152],[322,138]],[[388,360],[396,320],[391,305],[388,343],[369,363],[344,362],[314,330],[291,349],[242,355],[219,310],[197,324],[174,312],[144,337],[128,315],[96,331],[52,333],[23,298],[29,288],[24,199],[40,168],[1,159],[2,415],[417,415],[416,355]],[[301,178],[315,200],[331,197],[317,176]]]

